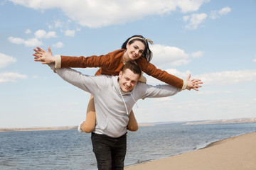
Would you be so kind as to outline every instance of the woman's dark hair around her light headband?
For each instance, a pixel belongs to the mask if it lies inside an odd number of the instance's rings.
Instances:
[[[140,38],[144,38],[142,35],[133,35],[132,37],[128,38],[122,45],[122,49],[127,49],[127,43],[129,41],[129,39],[134,38],[134,37],[139,37],[138,39],[133,39],[129,42],[129,45],[131,45],[134,41],[139,40],[140,42],[142,42],[145,45],[145,50],[142,54],[142,57],[144,57],[146,59],[147,62],[150,62],[152,57],[153,57],[153,53],[151,52],[151,50],[149,49],[149,43],[147,42],[147,40],[142,40]]]

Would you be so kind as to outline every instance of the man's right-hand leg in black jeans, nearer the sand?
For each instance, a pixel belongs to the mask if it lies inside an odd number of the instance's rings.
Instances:
[[[124,158],[127,151],[127,135],[115,139],[114,146],[112,147],[112,169],[124,169]]]

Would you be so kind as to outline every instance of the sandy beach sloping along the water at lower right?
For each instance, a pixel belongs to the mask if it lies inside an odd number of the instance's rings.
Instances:
[[[213,142],[206,148],[126,166],[125,170],[256,170],[256,132]]]

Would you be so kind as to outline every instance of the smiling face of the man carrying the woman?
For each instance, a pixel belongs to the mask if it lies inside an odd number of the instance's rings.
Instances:
[[[119,86],[122,91],[127,92],[134,89],[134,86],[139,81],[139,74],[135,74],[130,69],[126,69],[124,72],[119,72]]]

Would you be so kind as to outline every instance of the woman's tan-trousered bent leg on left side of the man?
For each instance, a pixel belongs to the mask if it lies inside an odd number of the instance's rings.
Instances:
[[[90,133],[95,129],[96,123],[96,113],[95,113],[95,103],[94,98],[91,95],[90,101],[87,106],[87,113],[85,121],[80,125],[82,132]]]

